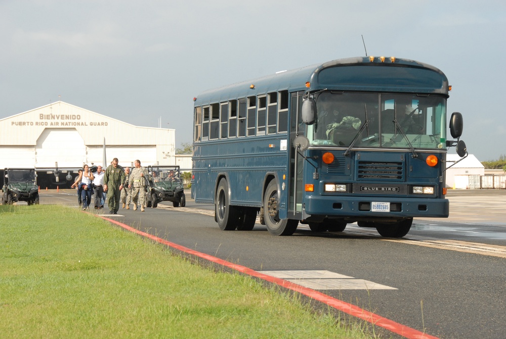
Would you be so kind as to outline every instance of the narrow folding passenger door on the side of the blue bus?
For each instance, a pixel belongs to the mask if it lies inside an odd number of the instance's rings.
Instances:
[[[290,165],[288,183],[288,218],[302,219],[302,197],[304,190],[304,158],[297,154],[293,140],[299,135],[306,135],[306,125],[302,121],[302,96],[304,91],[291,93],[290,98]]]

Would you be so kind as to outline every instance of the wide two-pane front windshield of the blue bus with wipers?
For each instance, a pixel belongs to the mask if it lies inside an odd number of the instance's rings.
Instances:
[[[446,99],[429,94],[325,91],[316,98],[311,146],[445,149]]]

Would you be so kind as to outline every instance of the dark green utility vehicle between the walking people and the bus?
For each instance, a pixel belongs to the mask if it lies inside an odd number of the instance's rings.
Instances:
[[[172,201],[174,207],[186,206],[179,166],[148,166],[148,172],[147,207],[157,207],[161,201]]]

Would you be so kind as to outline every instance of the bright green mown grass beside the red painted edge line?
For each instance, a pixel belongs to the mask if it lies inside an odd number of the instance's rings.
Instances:
[[[348,324],[345,325],[344,322]],[[91,214],[0,206],[2,338],[367,338],[358,320],[216,272]]]

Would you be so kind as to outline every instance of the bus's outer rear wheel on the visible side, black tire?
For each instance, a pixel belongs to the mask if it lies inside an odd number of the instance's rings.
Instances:
[[[241,221],[240,210],[235,206],[230,206],[228,192],[228,182],[222,178],[216,190],[215,200],[216,220],[222,231],[233,231]]]

